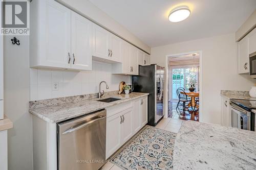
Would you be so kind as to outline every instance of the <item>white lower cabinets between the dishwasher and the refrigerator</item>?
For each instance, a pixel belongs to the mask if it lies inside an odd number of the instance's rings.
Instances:
[[[147,124],[147,97],[106,109],[106,159]]]

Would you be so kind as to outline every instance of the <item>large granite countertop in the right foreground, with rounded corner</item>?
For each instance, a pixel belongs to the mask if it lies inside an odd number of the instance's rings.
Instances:
[[[186,121],[177,134],[174,169],[256,169],[256,132]]]

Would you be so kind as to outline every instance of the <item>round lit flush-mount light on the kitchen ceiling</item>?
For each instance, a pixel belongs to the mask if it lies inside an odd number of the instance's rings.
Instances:
[[[179,22],[186,19],[190,15],[190,10],[187,6],[179,6],[173,9],[169,14],[169,21]]]

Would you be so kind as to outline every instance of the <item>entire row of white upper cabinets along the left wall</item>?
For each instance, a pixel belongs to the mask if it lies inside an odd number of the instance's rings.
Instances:
[[[92,70],[112,63],[113,74],[138,75],[149,56],[54,0],[30,3],[30,67]]]

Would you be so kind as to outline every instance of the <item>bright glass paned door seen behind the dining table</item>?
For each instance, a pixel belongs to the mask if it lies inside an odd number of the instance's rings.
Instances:
[[[197,84],[195,84],[195,90],[198,91],[199,66],[175,66],[170,67],[170,71],[172,72],[172,79],[170,80],[170,88],[172,89],[172,93],[170,94],[171,100],[178,100],[176,90],[179,87],[183,87],[185,90],[188,90],[191,79],[196,81]]]

